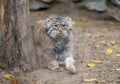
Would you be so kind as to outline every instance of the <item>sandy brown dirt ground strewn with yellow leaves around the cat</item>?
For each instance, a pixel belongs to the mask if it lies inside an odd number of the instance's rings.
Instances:
[[[27,75],[31,84],[120,84],[120,56],[116,56],[120,54],[120,23],[105,13],[80,9],[69,0],[55,2],[48,10],[31,11],[30,19],[34,22],[53,15],[69,16],[76,22],[73,34],[77,74],[41,68]],[[108,55],[107,49],[113,52]],[[92,60],[101,63],[88,67]]]

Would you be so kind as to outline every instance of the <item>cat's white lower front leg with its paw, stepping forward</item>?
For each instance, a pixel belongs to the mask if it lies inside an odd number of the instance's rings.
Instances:
[[[73,73],[73,74],[76,73],[76,68],[75,68],[75,65],[74,65],[73,57],[67,57],[65,59],[65,66],[70,73]]]

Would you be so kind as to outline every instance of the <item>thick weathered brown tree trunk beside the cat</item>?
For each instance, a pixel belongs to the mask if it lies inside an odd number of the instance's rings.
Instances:
[[[0,66],[5,69],[38,68],[29,26],[29,0],[0,0],[0,51]]]

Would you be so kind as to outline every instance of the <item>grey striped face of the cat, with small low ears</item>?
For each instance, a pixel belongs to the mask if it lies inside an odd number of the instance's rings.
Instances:
[[[53,39],[69,37],[72,24],[70,17],[51,17],[45,21],[45,30],[49,37]]]

